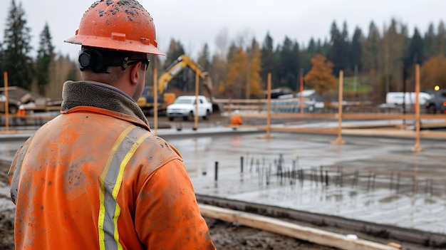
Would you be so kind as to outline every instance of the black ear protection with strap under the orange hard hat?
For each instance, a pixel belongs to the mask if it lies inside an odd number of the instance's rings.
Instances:
[[[115,53],[115,55],[113,55]],[[128,66],[128,58],[131,53],[117,55],[115,51],[101,51],[97,48],[82,47],[79,52],[79,69],[91,70],[95,73],[110,73],[110,66],[121,66],[123,71]]]

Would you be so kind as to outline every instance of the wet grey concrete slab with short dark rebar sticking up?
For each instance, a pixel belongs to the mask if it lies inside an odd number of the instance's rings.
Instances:
[[[273,132],[266,140],[229,127],[157,135],[180,151],[197,194],[445,234],[444,140],[422,139],[413,152],[410,138],[345,135],[345,145],[332,145],[336,135]],[[1,159],[29,135],[14,136],[0,135]]]

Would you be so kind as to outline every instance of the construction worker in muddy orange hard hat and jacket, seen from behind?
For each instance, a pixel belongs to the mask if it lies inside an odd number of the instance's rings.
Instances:
[[[136,104],[155,26],[135,0],[96,1],[76,36],[82,81],[9,170],[16,249],[215,249],[182,157]]]

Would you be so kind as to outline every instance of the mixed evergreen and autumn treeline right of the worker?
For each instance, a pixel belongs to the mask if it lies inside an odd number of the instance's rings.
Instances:
[[[268,73],[272,73],[272,88],[298,91],[299,79],[303,76],[305,88],[323,89],[320,93],[326,93],[329,88],[317,85],[336,88],[336,84],[328,83],[330,79],[324,73],[328,71],[338,77],[339,71],[343,71],[348,87],[345,92],[351,98],[366,95],[372,100],[383,100],[389,91],[414,90],[416,64],[422,67],[421,90],[445,85],[445,24],[440,21],[437,26],[430,24],[424,34],[418,28],[412,36],[408,34],[408,27],[395,19],[382,30],[371,21],[367,33],[356,27],[352,36],[346,22],[340,28],[333,21],[329,40],[311,38],[304,46],[285,37],[274,47],[269,33],[259,44],[255,38],[246,41],[239,37],[229,41],[222,31],[215,39],[217,52],[211,55],[205,44],[197,62],[204,71],[211,73],[216,95],[225,98],[264,96],[262,90],[266,88]],[[167,60],[160,69],[182,53],[185,50],[180,41],[172,39]],[[180,82],[177,84],[185,85],[185,79],[189,78],[177,79]],[[193,79],[189,80],[192,86]]]

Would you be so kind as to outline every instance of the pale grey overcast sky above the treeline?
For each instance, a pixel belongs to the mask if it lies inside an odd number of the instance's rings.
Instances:
[[[12,0],[1,0],[0,41]],[[63,43],[74,35],[79,21],[93,0],[15,0],[21,3],[31,28],[31,45],[38,48],[38,36],[48,22],[56,52],[77,58],[80,46]],[[214,52],[215,38],[226,30],[231,41],[241,34],[263,43],[269,32],[274,43],[285,36],[299,44],[311,37],[329,38],[333,21],[349,36],[356,26],[368,33],[370,21],[382,29],[392,18],[408,25],[410,36],[417,27],[422,34],[430,23],[437,28],[446,20],[445,0],[140,0],[155,21],[158,46],[167,51],[171,38],[179,40],[186,53],[195,57],[204,43]],[[35,51],[34,51],[35,53]]]

